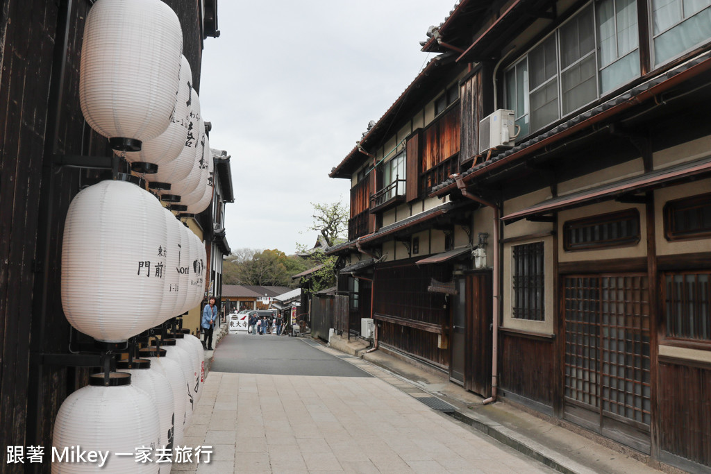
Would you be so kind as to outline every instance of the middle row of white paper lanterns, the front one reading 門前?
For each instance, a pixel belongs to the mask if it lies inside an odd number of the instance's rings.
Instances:
[[[65,316],[96,340],[125,341],[201,303],[206,259],[200,239],[148,191],[92,185],[65,222]]]

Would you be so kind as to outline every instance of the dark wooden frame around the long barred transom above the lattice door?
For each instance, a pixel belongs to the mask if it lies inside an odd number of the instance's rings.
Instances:
[[[573,244],[570,242],[571,231],[580,227],[594,227],[610,225],[616,222],[631,220],[634,227],[633,235],[617,237],[616,239],[599,240]],[[626,210],[608,212],[606,214],[582,217],[581,219],[567,220],[563,223],[563,249],[566,252],[580,252],[584,250],[611,249],[619,247],[634,247],[641,239],[641,222],[639,210],[630,208]]]

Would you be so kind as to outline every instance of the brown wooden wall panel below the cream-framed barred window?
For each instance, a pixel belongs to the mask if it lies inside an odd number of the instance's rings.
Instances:
[[[553,406],[555,344],[511,333],[500,333],[499,385],[520,397]]]

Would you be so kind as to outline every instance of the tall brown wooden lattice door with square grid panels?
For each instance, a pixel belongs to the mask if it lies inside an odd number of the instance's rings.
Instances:
[[[649,451],[646,274],[566,276],[565,417]]]

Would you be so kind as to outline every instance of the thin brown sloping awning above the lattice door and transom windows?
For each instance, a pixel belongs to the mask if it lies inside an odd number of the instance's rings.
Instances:
[[[624,194],[634,194],[651,190],[661,187],[662,185],[683,181],[705,173],[711,173],[711,156],[670,166],[669,168],[661,170],[650,171],[639,176],[615,181],[614,183],[607,183],[595,188],[578,191],[577,193],[570,193],[565,196],[545,200],[530,208],[511,212],[501,217],[501,220],[509,223],[524,219],[525,217],[533,217],[534,215],[576,208],[580,205],[614,199]]]

